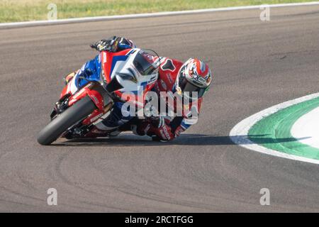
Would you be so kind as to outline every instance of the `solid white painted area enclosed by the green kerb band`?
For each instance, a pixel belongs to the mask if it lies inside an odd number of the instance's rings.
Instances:
[[[306,138],[300,142],[319,149],[319,107],[301,116],[291,127],[291,135]]]

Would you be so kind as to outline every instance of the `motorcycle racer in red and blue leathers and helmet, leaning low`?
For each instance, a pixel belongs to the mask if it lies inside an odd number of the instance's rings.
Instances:
[[[128,48],[136,48],[132,40],[123,37],[113,36],[106,40],[99,40],[91,45],[101,51],[118,52]],[[65,82],[69,82],[74,76],[81,78],[89,78],[99,81],[101,68],[99,66],[99,55],[93,60],[86,62],[83,67],[77,72],[67,75]],[[179,94],[180,97],[187,96],[191,101],[189,105],[184,105],[187,109],[195,107],[196,116],[201,110],[203,95],[208,91],[211,85],[211,70],[208,65],[201,60],[190,58],[186,62],[170,59],[168,57],[160,57],[159,77],[153,91],[161,96],[161,92],[172,92]],[[79,85],[86,83],[85,79],[79,79]],[[197,97],[191,96],[191,92],[197,92]],[[176,112],[177,104],[173,106],[164,98],[167,106]],[[189,116],[190,111],[183,111],[182,116],[166,116],[159,114],[158,117],[149,117],[138,124],[131,125],[130,128],[125,128],[125,123],[133,119],[133,116],[123,116],[121,107],[123,103],[116,102],[111,113],[97,123],[89,133],[84,135],[85,138],[96,138],[103,136],[115,136],[121,131],[131,130],[137,135],[150,135],[154,140],[168,141],[177,138],[181,132],[185,131],[191,125],[196,123],[193,116]],[[163,116],[164,115],[164,116]],[[193,117],[193,118],[192,118]]]

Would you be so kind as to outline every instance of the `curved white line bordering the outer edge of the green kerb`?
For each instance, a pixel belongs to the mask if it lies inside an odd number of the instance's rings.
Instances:
[[[301,162],[310,162],[313,164],[319,164],[319,160],[313,160],[307,157],[300,157],[296,155],[289,155],[286,153],[281,153],[276,150],[272,150],[269,148],[265,148],[261,145],[258,145],[256,143],[253,143],[251,140],[247,139],[248,131],[252,126],[257,123],[257,121],[262,120],[262,118],[265,118],[271,114],[276,113],[277,111],[280,111],[281,109],[285,109],[289,106],[292,106],[294,104],[301,103],[303,101],[308,101],[310,99],[315,99],[319,97],[319,93],[315,94],[309,94],[307,96],[303,96],[298,99],[293,99],[291,101],[286,101],[281,104],[277,104],[276,106],[272,106],[268,109],[264,109],[263,111],[258,112],[257,114],[254,114],[248,118],[245,118],[244,120],[240,121],[240,123],[237,123],[237,125],[230,131],[230,139],[233,140],[234,143],[237,145],[240,145],[244,148],[257,151],[259,153],[264,153],[267,155],[274,155],[277,157],[284,157],[291,160],[298,160]]]

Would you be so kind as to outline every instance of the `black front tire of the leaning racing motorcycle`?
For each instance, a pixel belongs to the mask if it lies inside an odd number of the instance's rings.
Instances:
[[[59,116],[55,117],[38,134],[38,143],[40,145],[50,145],[62,135],[68,128],[89,116],[96,106],[89,96],[77,101]]]

